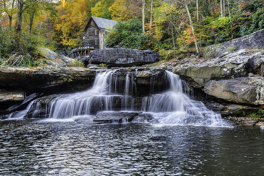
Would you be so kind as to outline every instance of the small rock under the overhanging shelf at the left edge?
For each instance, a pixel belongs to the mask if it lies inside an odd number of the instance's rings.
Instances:
[[[21,101],[25,99],[25,92],[22,90],[2,90],[0,89],[0,102]]]

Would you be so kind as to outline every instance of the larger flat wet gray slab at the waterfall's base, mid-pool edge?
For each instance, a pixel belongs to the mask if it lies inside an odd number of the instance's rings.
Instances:
[[[94,122],[106,122],[106,123],[112,123],[112,122],[130,122],[132,121],[133,117],[138,115],[139,112],[109,112],[109,111],[103,111],[98,112],[96,115],[96,118],[94,119]]]

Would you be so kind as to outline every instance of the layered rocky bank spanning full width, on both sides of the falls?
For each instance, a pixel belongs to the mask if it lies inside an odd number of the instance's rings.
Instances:
[[[263,51],[239,50],[216,58],[194,57],[155,66],[123,67],[118,72],[120,81],[127,76],[133,78],[138,87],[133,94],[139,97],[140,102],[142,96],[165,90],[165,70],[172,71],[185,79],[188,84],[186,90],[193,92],[194,99],[202,101],[208,109],[241,126],[252,126],[261,124],[264,119],[263,66]],[[11,106],[22,104],[26,97],[34,93],[47,96],[71,92],[74,87],[87,89],[97,72],[111,69],[117,67],[60,67],[54,64],[37,68],[0,66],[1,114],[12,112],[14,109]]]

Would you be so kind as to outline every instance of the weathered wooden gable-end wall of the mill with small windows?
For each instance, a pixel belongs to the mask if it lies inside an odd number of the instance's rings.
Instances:
[[[91,24],[93,23],[93,24]],[[97,30],[97,35],[95,35],[95,30]],[[88,27],[85,29],[85,46],[93,46],[95,50],[100,48],[99,46],[99,28],[95,24],[94,20],[91,18],[88,21]],[[89,31],[89,36],[87,36],[87,31]],[[97,39],[97,45],[95,43]]]

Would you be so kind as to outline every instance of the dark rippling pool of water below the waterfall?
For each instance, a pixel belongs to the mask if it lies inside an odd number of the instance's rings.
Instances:
[[[264,173],[264,131],[257,127],[89,123],[0,121],[0,175]]]

